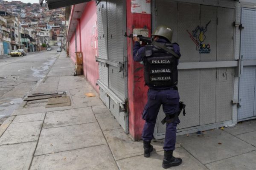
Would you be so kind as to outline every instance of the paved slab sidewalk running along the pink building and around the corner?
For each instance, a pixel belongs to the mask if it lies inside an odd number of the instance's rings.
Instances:
[[[62,52],[31,92],[66,91],[71,106],[45,108],[47,100],[23,102],[0,126],[0,170],[159,170],[163,140],[143,157],[142,141],[125,134],[99,95]],[[87,97],[93,93],[95,97]],[[171,170],[255,170],[256,121],[224,130],[177,136]]]

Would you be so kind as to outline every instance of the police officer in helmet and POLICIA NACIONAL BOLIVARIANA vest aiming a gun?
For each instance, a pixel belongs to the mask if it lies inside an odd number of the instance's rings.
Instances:
[[[172,156],[175,150],[177,124],[180,120],[173,119],[179,111],[180,96],[177,91],[177,65],[180,48],[177,43],[172,42],[172,29],[167,26],[159,26],[152,34],[152,44],[141,47],[139,39],[133,37],[134,61],[144,64],[144,78],[148,85],[148,101],[145,105],[142,118],[145,120],[142,139],[144,156],[149,157],[153,151],[150,144],[153,139],[154,126],[160,106],[166,114],[166,135],[164,141],[163,168],[178,166],[182,159]],[[163,46],[175,53],[167,52]],[[162,47],[162,48],[161,48]],[[172,119],[172,121],[168,121]]]

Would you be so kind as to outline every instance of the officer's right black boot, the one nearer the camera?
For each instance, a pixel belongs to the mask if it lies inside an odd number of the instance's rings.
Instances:
[[[179,166],[181,164],[182,159],[175,158],[174,156],[172,156],[172,153],[173,153],[173,150],[164,151],[163,164],[162,164],[163,168],[166,169],[169,167]]]

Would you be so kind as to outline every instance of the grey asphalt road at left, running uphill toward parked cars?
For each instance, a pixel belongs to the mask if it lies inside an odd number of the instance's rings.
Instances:
[[[0,124],[44,79],[58,56],[57,47],[53,47],[52,51],[0,59]]]

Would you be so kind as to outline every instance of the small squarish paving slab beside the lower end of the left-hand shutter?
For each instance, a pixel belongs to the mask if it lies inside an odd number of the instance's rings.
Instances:
[[[122,128],[110,112],[95,114],[95,116],[102,131]]]

